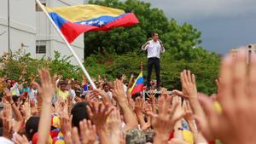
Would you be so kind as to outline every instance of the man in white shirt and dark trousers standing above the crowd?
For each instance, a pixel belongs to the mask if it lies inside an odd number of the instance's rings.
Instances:
[[[150,88],[150,78],[152,68],[154,66],[156,75],[156,86],[160,89],[160,53],[165,52],[163,43],[158,39],[158,33],[152,34],[152,40],[145,43],[142,47],[143,50],[148,51],[148,77],[147,77],[147,88]]]

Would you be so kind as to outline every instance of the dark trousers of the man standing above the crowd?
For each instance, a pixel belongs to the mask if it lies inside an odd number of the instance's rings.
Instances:
[[[160,88],[160,59],[157,57],[148,58],[148,77],[147,77],[147,87],[150,88],[150,79],[152,68],[154,66],[155,76],[156,76],[156,86]]]

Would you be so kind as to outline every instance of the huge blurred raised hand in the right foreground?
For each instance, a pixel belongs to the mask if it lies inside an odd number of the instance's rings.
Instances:
[[[247,50],[240,49],[236,58],[227,55],[222,60],[221,90],[218,102],[223,112],[218,114],[207,97],[201,101],[207,115],[209,130],[225,144],[250,144],[256,141],[256,55],[252,54],[247,65]]]

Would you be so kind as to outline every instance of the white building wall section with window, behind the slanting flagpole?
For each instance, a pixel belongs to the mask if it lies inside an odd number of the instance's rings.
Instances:
[[[84,3],[84,0],[42,0],[42,3],[46,3],[47,7],[61,7],[68,5],[76,5]],[[72,55],[67,45],[63,42],[59,34],[55,31],[55,27],[49,23],[48,18],[43,12],[37,12],[37,44],[46,45],[46,56],[53,58],[54,52],[59,51],[61,55]],[[80,35],[73,43],[72,47],[80,60],[84,58],[84,35]],[[38,54],[37,57],[41,57],[44,54]],[[77,64],[74,58],[71,59],[73,64]]]

